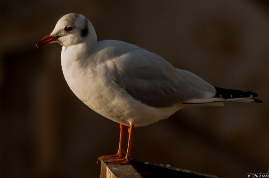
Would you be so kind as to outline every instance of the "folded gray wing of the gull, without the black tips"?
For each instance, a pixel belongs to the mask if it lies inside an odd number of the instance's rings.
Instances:
[[[135,47],[110,60],[112,79],[133,98],[153,107],[169,107],[193,98],[210,98],[215,88],[162,57]]]

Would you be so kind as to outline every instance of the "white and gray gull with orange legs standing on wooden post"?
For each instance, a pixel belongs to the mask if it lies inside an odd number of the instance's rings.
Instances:
[[[102,156],[108,164],[131,159],[134,127],[166,119],[187,106],[220,106],[225,101],[262,102],[253,92],[214,87],[191,72],[177,69],[161,56],[122,41],[97,41],[91,22],[69,13],[36,47],[58,42],[66,82],[95,112],[120,123],[119,151]],[[125,158],[123,137],[129,126]]]

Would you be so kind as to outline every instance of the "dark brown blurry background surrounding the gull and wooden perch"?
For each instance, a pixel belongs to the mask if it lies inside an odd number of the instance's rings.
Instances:
[[[118,150],[119,124],[69,89],[61,46],[35,48],[64,14],[93,23],[98,40],[126,41],[214,86],[264,103],[189,107],[136,128],[132,157],[224,177],[269,169],[269,1],[0,1],[0,177],[99,177]],[[128,138],[126,137],[126,140]]]

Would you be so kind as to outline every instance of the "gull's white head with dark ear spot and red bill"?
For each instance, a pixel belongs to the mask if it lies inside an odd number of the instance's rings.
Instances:
[[[82,14],[70,13],[64,15],[57,22],[51,34],[40,39],[36,47],[39,48],[52,42],[58,42],[62,46],[68,47],[91,38],[96,39],[91,22]]]

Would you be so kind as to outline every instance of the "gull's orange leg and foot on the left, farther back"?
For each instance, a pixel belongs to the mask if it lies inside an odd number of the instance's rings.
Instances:
[[[122,158],[123,153],[125,153],[124,150],[123,150],[123,139],[124,139],[125,125],[121,124],[120,128],[121,128],[121,136],[119,138],[119,151],[118,151],[118,153],[115,154],[115,155],[100,156],[98,158],[98,161]]]

